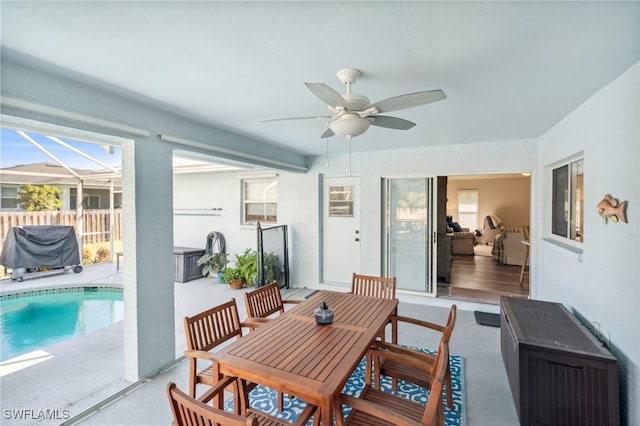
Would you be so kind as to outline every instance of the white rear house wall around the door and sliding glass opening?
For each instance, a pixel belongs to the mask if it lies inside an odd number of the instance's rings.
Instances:
[[[533,170],[537,155],[537,143],[532,141],[353,153],[351,172],[359,176],[361,192],[360,272],[373,275],[380,272],[380,191],[383,177],[520,172]],[[348,174],[349,158],[344,153],[330,153],[328,166],[326,157],[312,159],[310,171],[304,175],[278,174],[278,222],[289,227],[291,284],[294,287],[316,287],[320,283],[321,178],[324,175],[335,177]],[[222,208],[220,216],[175,216],[176,245],[204,248],[206,234],[215,230],[225,235],[228,253],[255,247],[255,229],[240,225],[242,175],[220,173],[174,177],[174,208],[177,211]]]

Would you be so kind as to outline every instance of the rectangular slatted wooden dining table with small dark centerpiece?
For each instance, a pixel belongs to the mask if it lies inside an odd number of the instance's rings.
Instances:
[[[316,324],[322,302],[334,310],[332,324]],[[318,291],[216,352],[220,373],[296,396],[331,425],[335,401],[397,306],[397,299]]]

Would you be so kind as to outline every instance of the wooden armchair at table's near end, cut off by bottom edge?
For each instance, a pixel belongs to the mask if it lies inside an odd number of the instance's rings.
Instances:
[[[207,402],[224,395],[225,388],[235,389],[235,413],[207,405]],[[173,413],[173,426],[302,426],[315,414],[316,407],[307,405],[300,413],[295,423],[284,422],[267,413],[248,406],[247,393],[243,381],[235,377],[223,377],[205,392],[202,397],[195,399],[178,389],[173,382],[167,384],[167,395]],[[318,416],[314,416],[314,425],[318,424]]]

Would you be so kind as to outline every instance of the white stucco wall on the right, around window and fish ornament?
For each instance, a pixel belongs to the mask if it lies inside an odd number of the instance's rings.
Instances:
[[[541,138],[540,177],[545,166],[584,152],[585,237],[581,255],[541,240],[546,230],[539,216],[532,248],[533,296],[563,303],[587,325],[599,323],[610,339],[620,368],[622,424],[628,425],[640,424],[639,80],[636,64]],[[628,224],[602,223],[595,207],[607,193],[628,200]],[[545,214],[549,199],[540,191],[534,201]]]

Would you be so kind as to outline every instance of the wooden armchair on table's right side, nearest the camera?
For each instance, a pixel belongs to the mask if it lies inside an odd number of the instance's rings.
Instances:
[[[429,399],[426,405],[420,405],[393,393],[383,392],[371,386],[365,386],[359,397],[342,394],[336,403],[336,425],[395,425],[395,426],[443,426],[444,404],[442,387],[447,371],[449,347],[441,339],[435,358],[434,379],[431,381]],[[348,405],[351,412],[344,419],[342,406]]]

